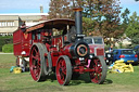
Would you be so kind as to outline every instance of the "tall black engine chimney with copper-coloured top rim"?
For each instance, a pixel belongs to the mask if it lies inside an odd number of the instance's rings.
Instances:
[[[83,16],[81,16],[81,8],[75,8],[75,26],[76,26],[76,34],[77,39],[80,40],[83,38]]]

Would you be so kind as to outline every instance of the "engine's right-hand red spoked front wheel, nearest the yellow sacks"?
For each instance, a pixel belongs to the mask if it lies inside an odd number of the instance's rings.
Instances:
[[[98,56],[91,60],[89,68],[93,69],[90,71],[90,79],[94,83],[103,83],[106,78],[106,64],[103,56]]]

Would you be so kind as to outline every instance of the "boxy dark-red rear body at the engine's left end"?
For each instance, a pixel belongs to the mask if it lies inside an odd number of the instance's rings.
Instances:
[[[29,56],[30,51],[30,34],[25,34],[22,29],[17,29],[13,32],[13,45],[14,45],[14,55],[22,55],[22,52],[25,51],[25,56]]]

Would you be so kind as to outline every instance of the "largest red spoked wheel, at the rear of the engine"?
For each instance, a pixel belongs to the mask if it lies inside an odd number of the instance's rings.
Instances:
[[[29,69],[31,77],[35,81],[45,80],[43,61],[45,61],[45,56],[41,44],[39,43],[34,44],[30,51]]]

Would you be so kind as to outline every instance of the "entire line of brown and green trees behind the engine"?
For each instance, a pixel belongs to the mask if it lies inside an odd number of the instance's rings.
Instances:
[[[139,16],[130,11],[121,12],[119,0],[50,0],[49,18],[74,18],[73,8],[81,6],[83,30],[87,36],[102,36],[106,44],[115,43],[109,39],[119,39],[124,34],[139,43]],[[138,1],[138,0],[136,0]],[[136,40],[136,41],[135,41]]]

